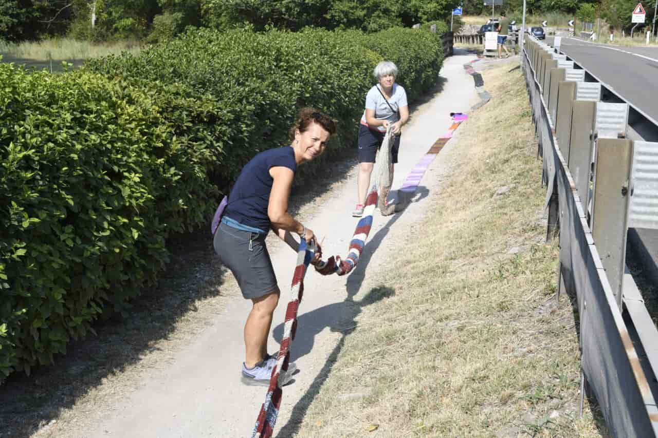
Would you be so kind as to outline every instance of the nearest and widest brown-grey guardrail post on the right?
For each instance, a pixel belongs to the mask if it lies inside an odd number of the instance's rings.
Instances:
[[[628,206],[632,191],[633,142],[599,138],[596,143],[592,238],[621,310]]]

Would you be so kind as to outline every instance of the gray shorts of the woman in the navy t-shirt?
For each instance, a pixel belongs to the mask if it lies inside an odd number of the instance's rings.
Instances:
[[[265,237],[265,234],[237,230],[223,222],[215,233],[215,253],[224,266],[233,272],[245,299],[255,299],[278,291]]]

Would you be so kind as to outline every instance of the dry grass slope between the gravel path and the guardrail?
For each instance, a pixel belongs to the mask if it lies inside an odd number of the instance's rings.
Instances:
[[[511,66],[484,73],[492,102],[458,131],[453,175],[405,251],[370,274],[382,279],[370,294],[395,294],[357,318],[297,436],[605,433],[588,404],[578,418],[577,316],[569,297],[555,305],[557,245],[543,243],[540,162]]]

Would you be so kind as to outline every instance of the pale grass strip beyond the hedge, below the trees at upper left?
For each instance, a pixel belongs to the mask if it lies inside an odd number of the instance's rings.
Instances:
[[[0,53],[36,61],[89,59],[105,55],[118,55],[122,51],[137,53],[140,50],[141,44],[134,41],[95,44],[72,38],[53,38],[43,41],[9,43],[0,39]]]

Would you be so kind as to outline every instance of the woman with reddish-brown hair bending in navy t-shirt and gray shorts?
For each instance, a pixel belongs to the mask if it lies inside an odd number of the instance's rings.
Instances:
[[[297,166],[322,155],[334,134],[334,120],[316,109],[301,109],[291,128],[291,145],[261,152],[243,167],[215,233],[215,252],[238,280],[242,296],[253,303],[244,329],[241,379],[247,385],[268,385],[276,363],[267,354],[267,339],[280,291],[265,237],[271,229],[294,251],[299,243],[291,233],[307,242],[315,239],[313,230],[288,212],[288,198]],[[286,381],[293,371],[289,366]]]

